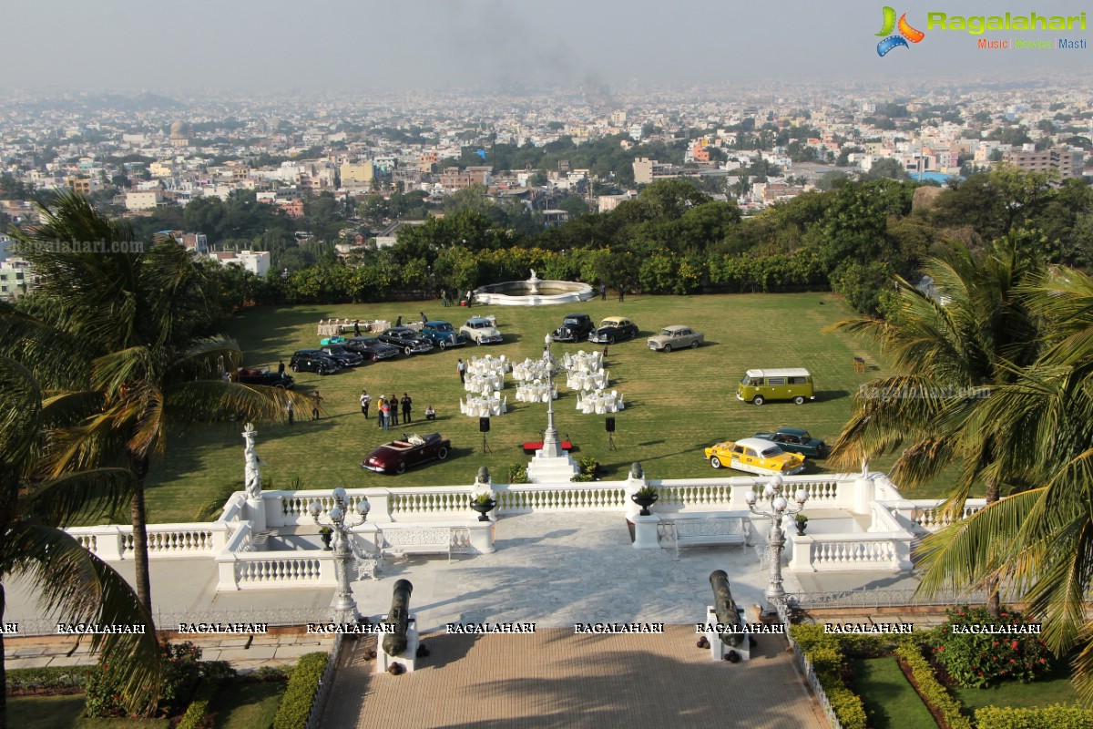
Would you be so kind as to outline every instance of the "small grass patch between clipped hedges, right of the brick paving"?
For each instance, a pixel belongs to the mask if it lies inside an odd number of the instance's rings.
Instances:
[[[925,729],[937,727],[895,658],[854,659],[854,692],[866,705],[873,729]]]

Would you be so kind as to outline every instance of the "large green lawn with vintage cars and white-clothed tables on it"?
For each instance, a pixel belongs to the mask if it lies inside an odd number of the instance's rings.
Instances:
[[[603,415],[576,410],[575,395],[561,383],[555,401],[560,432],[578,447],[576,456],[591,454],[606,467],[604,478],[622,478],[633,461],[640,461],[653,478],[709,478],[716,473],[702,449],[717,440],[740,438],[781,425],[809,428],[813,435],[834,439],[846,421],[851,396],[858,387],[883,373],[871,343],[846,334],[821,334],[820,329],[854,313],[832,294],[632,296],[623,304],[595,299],[573,306],[443,308],[439,302],[406,302],[342,306],[262,307],[250,309],[226,322],[224,332],[235,337],[246,352],[246,364],[287,364],[296,349],[318,344],[319,319],[385,318],[403,321],[424,310],[433,319],[448,319],[458,328],[469,314],[494,314],[505,336],[503,344],[465,346],[414,357],[399,356],[366,364],[338,375],[296,375],[297,390],[321,390],[326,412],[318,422],[298,412],[294,426],[286,423],[259,425],[258,454],[266,463],[263,480],[271,486],[290,487],[299,479],[305,487],[332,489],[383,485],[469,484],[479,467],[487,466],[498,483],[507,480],[508,467],[527,462],[518,444],[538,439],[545,427],[545,405],[515,401],[507,380],[508,413],[493,418],[489,445],[481,454],[482,436],[477,418],[460,414],[457,401],[466,393],[459,385],[456,360],[505,354],[509,358],[538,357],[543,336],[553,331],[569,311],[588,313],[595,320],[610,315],[631,317],[640,328],[636,340],[611,346],[608,369],[611,389],[625,395],[626,409],[616,414],[618,450],[608,449]],[[661,327],[682,324],[706,334],[697,350],[665,354],[649,351],[645,340]],[[554,353],[590,350],[595,345],[554,345]],[[868,363],[856,374],[855,356]],[[745,369],[756,367],[808,367],[815,379],[818,398],[804,405],[767,403],[755,407],[736,399],[736,386]],[[376,421],[361,415],[357,397],[362,388],[373,396],[409,392],[418,419],[425,405],[437,410],[437,422],[399,425],[390,434]],[[374,413],[373,413],[374,418]],[[301,422],[303,421],[303,422]],[[402,432],[438,431],[451,439],[451,456],[400,477],[364,471],[360,461],[377,445]],[[243,481],[242,424],[231,423],[174,434],[166,456],[152,465],[149,475],[149,508],[152,521],[189,521],[198,505],[218,487]],[[875,462],[874,468],[888,463]],[[814,472],[823,462],[810,463]],[[937,490],[919,491],[927,497]]]

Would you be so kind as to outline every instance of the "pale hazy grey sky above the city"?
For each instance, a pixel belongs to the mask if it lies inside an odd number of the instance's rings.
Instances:
[[[891,0],[890,0],[891,2]],[[881,2],[733,0],[22,0],[2,13],[4,83],[20,87],[275,91],[613,86],[740,79],[1006,80],[1093,69],[1093,49],[980,50],[926,13],[1077,15],[1079,0],[892,3],[926,38],[877,55]],[[914,7],[912,7],[914,5]],[[1022,37],[1086,38],[1089,31]]]

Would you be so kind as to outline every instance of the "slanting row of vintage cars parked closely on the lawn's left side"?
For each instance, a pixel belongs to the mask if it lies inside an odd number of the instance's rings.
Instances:
[[[332,375],[364,362],[379,362],[397,356],[410,356],[462,346],[467,342],[492,344],[501,342],[502,334],[489,319],[471,317],[456,331],[449,321],[434,320],[422,325],[421,331],[410,327],[390,327],[369,337],[331,337],[318,348],[297,350],[289,363],[293,372],[314,372]]]

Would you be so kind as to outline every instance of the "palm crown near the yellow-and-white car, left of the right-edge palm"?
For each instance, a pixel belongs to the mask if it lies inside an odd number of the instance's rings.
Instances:
[[[1003,485],[1018,487],[1001,468],[1006,442],[975,414],[985,391],[1013,381],[1038,352],[1037,320],[1018,286],[1044,266],[1014,237],[984,255],[953,244],[922,268],[940,296],[897,278],[897,305],[888,320],[841,321],[827,330],[872,336],[897,373],[859,392],[833,452],[846,466],[862,455],[902,451],[892,477],[908,489],[955,467],[944,510],[959,514],[977,484],[988,504]],[[997,615],[997,583],[988,580],[987,589],[988,610]]]

